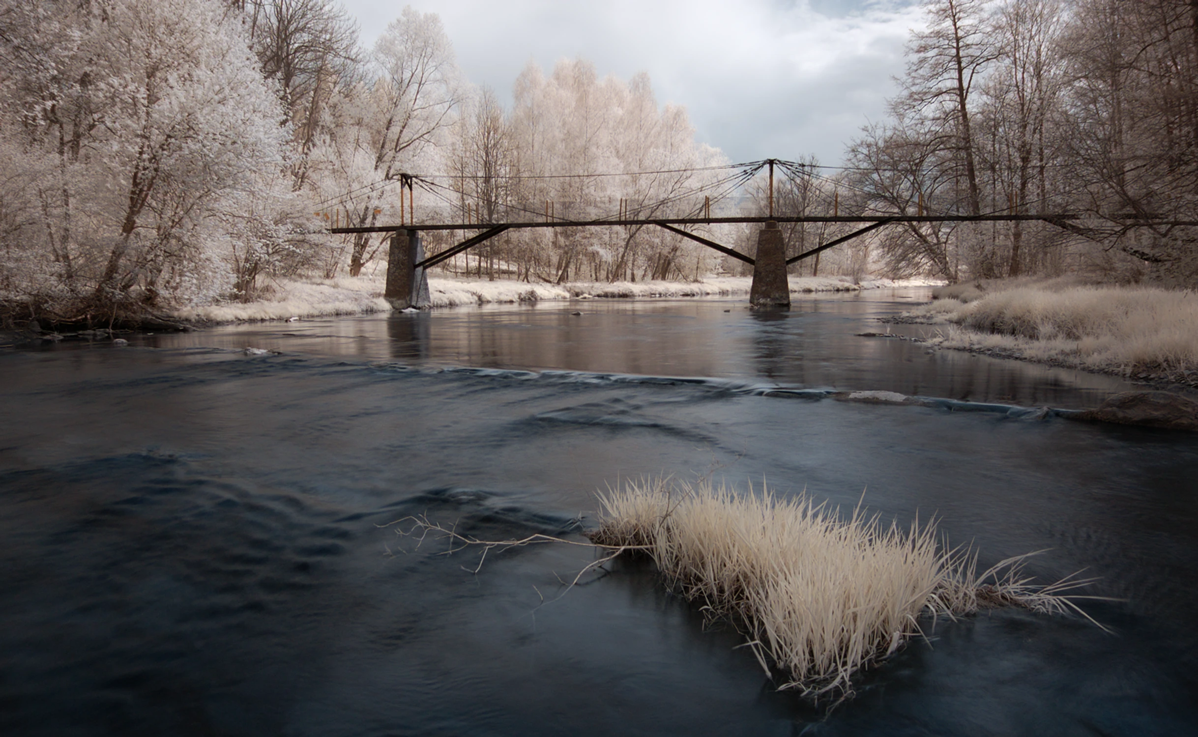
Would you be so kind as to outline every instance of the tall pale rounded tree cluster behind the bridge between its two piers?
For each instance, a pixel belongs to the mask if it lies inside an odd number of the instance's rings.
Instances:
[[[698,145],[683,108],[659,106],[649,78],[600,80],[593,65],[562,61],[551,75],[530,65],[515,86],[519,200],[568,219],[651,219],[697,214],[710,175],[724,163]],[[531,236],[530,240],[537,238]],[[690,242],[640,225],[621,232],[557,229],[540,236],[534,272],[541,279],[653,279],[691,274]]]

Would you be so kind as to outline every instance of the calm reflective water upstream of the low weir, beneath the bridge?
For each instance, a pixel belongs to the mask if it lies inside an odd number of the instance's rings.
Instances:
[[[254,346],[317,355],[437,366],[484,366],[762,379],[782,385],[1077,408],[1131,385],[1021,361],[930,352],[877,318],[928,290],[795,299],[789,311],[751,312],[743,300],[592,300],[242,324],[143,337],[157,347]],[[576,312],[581,312],[580,315]]]

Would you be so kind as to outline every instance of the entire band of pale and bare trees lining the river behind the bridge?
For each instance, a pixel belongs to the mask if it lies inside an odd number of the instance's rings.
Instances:
[[[1194,219],[1198,6],[930,0],[925,11],[888,120],[852,141],[846,166],[806,158],[780,176],[775,212],[1096,219],[891,226],[795,269],[966,279],[1084,267],[1193,282],[1192,229],[1117,220]],[[412,8],[368,50],[325,0],[11,0],[0,60],[8,318],[110,319],[252,299],[276,276],[357,275],[386,257],[382,239],[326,229],[413,209],[417,221],[477,224],[766,208],[762,178],[738,179],[697,144],[685,110],[659,105],[646,75],[530,65],[504,110],[462,78],[438,18]],[[788,249],[842,232],[791,226]],[[754,248],[749,227],[706,234]],[[428,246],[460,237],[430,234]],[[740,268],[645,227],[510,232],[446,266],[547,282]]]

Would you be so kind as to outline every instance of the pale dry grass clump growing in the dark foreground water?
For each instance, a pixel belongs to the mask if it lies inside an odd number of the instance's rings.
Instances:
[[[1085,616],[1064,592],[1088,581],[1036,586],[1021,574],[1027,555],[979,575],[976,555],[938,544],[933,522],[901,529],[803,494],[667,479],[629,482],[600,504],[592,542],[651,555],[673,590],[744,632],[762,668],[783,674],[781,688],[852,693],[853,674],[922,634],[921,614],[1019,605]]]

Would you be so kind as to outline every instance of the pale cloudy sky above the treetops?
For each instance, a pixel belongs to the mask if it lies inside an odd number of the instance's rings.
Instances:
[[[403,0],[344,0],[374,45]],[[435,12],[458,63],[510,100],[533,60],[647,72],[659,103],[684,105],[701,141],[733,162],[807,153],[837,164],[845,141],[884,115],[916,0],[410,0]]]

